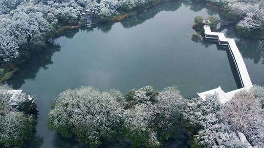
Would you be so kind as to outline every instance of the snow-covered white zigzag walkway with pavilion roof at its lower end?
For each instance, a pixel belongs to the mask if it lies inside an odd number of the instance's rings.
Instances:
[[[236,69],[240,78],[240,82],[242,84],[242,88],[238,90],[234,90],[231,92],[223,92],[221,88],[213,89],[206,92],[197,93],[203,100],[205,100],[206,95],[213,94],[215,92],[220,94],[220,102],[224,103],[234,96],[236,92],[242,90],[249,90],[253,87],[249,74],[247,72],[244,60],[239,52],[239,49],[236,45],[236,42],[233,38],[225,38],[223,33],[219,32],[211,32],[210,26],[204,25],[204,35],[205,38],[217,39],[220,45],[228,46],[229,51],[233,57],[234,63],[236,65]]]

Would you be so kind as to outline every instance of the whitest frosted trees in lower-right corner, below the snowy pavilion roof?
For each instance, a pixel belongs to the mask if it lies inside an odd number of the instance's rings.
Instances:
[[[264,115],[260,101],[264,96],[262,87],[249,92],[239,92],[234,98],[220,104],[218,95],[208,95],[206,100],[191,100],[183,113],[191,129],[191,147],[199,148],[247,148],[232,135],[234,131],[245,134],[256,148],[264,147]]]

